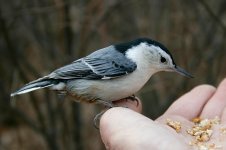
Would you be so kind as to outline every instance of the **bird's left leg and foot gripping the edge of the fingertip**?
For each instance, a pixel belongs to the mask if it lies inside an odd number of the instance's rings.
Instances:
[[[101,116],[109,109],[112,107],[115,107],[115,105],[111,101],[104,101],[104,100],[96,100],[97,103],[103,104],[106,106],[107,109],[102,110],[99,114],[97,114],[94,119],[93,119],[93,124],[96,129],[99,129],[99,123],[100,123],[100,118]]]

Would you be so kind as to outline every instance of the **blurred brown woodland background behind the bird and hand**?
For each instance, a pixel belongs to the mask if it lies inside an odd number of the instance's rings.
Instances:
[[[216,86],[226,76],[225,0],[0,0],[0,149],[104,149],[93,126],[98,106],[49,90],[9,95],[96,49],[138,37],[163,43],[195,76],[154,75],[137,94],[149,118],[194,86]]]

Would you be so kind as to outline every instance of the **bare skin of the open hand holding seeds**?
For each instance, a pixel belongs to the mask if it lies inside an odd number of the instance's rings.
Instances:
[[[143,149],[194,149],[188,143],[192,136],[186,133],[191,128],[191,120],[214,118],[219,116],[220,126],[215,126],[209,143],[216,143],[226,149],[226,135],[220,135],[220,127],[226,127],[226,79],[215,88],[200,85],[177,99],[168,110],[156,120],[140,114],[141,101],[121,100],[115,107],[104,113],[100,120],[100,134],[106,149],[109,150],[143,150]],[[166,119],[180,121],[179,133],[166,125]]]

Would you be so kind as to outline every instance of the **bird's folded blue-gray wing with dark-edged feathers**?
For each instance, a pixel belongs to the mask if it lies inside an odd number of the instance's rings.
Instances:
[[[136,67],[136,64],[122,53],[114,50],[113,47],[108,47],[55,70],[49,77],[67,80],[111,79],[129,74]]]

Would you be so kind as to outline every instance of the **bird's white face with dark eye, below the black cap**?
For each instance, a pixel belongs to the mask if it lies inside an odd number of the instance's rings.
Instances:
[[[158,46],[141,43],[129,51],[127,56],[135,61],[138,67],[146,65],[147,68],[155,69],[156,72],[172,71],[175,67],[170,55]]]

